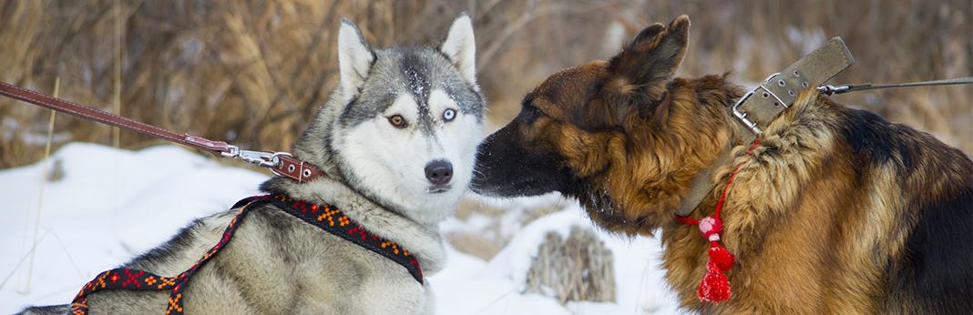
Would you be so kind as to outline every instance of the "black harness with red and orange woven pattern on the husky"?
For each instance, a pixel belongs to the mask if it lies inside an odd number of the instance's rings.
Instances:
[[[142,290],[160,291],[171,290],[166,305],[165,314],[183,314],[182,292],[189,284],[190,278],[203,263],[206,263],[213,256],[219,253],[230,239],[234,236],[234,231],[250,209],[262,205],[272,204],[284,212],[298,217],[304,222],[320,227],[332,234],[341,236],[343,239],[364,247],[372,252],[381,255],[392,262],[396,262],[406,267],[406,270],[413,276],[419,285],[423,284],[422,269],[415,261],[412,253],[400,247],[398,244],[386,240],[375,233],[365,230],[350,218],[345,216],[341,210],[332,205],[317,205],[303,200],[291,198],[285,194],[268,194],[251,196],[236,202],[233,208],[240,207],[230,226],[223,232],[223,238],[213,248],[203,254],[192,267],[174,277],[162,277],[152,272],[116,268],[98,274],[88,284],[82,288],[74,300],[71,302],[71,314],[82,315],[88,313],[88,295],[93,292],[104,290]]]

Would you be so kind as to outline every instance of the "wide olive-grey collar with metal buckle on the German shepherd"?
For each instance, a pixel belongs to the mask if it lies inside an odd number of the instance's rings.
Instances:
[[[804,56],[783,72],[767,78],[760,87],[747,92],[736,104],[728,107],[731,123],[737,129],[736,135],[742,143],[753,143],[763,133],[762,127],[773,122],[777,116],[794,104],[797,94],[802,90],[817,88],[854,62],[841,37],[835,37],[821,48]],[[703,202],[709,192],[716,187],[713,172],[732,161],[730,152],[733,142],[719,153],[713,166],[700,172],[690,187],[690,193],[676,214],[689,216]]]

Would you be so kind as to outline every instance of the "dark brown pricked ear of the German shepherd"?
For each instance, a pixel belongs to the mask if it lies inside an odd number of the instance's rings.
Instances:
[[[646,27],[622,53],[608,61],[611,79],[606,88],[625,98],[661,99],[688,45],[689,18],[686,16],[675,18],[665,27],[658,23]]]

